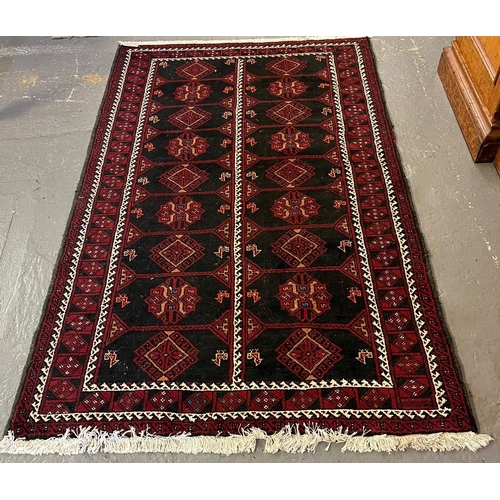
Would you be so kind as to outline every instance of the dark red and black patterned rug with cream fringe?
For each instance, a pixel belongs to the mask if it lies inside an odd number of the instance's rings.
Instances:
[[[368,39],[122,44],[4,453],[477,450]]]

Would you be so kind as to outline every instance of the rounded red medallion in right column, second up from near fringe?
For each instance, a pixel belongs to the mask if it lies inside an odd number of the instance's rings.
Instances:
[[[332,296],[326,285],[306,273],[296,274],[283,285],[279,285],[276,298],[281,309],[285,309],[299,321],[310,322],[330,310]]]

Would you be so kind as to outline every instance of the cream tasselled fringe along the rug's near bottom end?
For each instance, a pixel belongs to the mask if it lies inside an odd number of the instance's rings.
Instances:
[[[343,443],[342,452],[395,452],[412,448],[418,451],[477,451],[493,439],[474,432],[443,432],[408,436],[367,436],[349,434],[347,431],[305,427],[299,433],[298,426],[287,426],[276,434],[267,435],[261,429],[243,429],[231,436],[155,436],[147,431],[137,434],[129,431],[105,432],[95,428],[80,427],[68,430],[59,437],[48,439],[14,438],[12,431],[0,441],[0,454],[15,455],[78,455],[83,453],[217,453],[232,455],[252,453],[257,441],[264,441],[264,453],[310,453],[320,443]]]

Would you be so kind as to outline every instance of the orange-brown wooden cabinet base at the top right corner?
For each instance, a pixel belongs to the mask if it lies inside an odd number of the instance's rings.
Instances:
[[[438,74],[472,158],[500,174],[500,36],[458,36]]]

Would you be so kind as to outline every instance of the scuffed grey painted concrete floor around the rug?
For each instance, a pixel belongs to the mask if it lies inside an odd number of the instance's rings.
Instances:
[[[121,37],[158,40],[165,37]],[[185,40],[189,40],[186,37]],[[62,244],[116,37],[0,37],[0,432]],[[500,178],[476,165],[436,74],[451,37],[373,37],[379,76],[479,430],[500,437]],[[498,462],[477,452],[0,456],[0,462]]]

